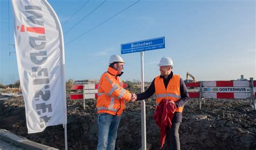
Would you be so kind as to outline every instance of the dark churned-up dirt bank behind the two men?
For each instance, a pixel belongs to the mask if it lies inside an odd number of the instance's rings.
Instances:
[[[69,149],[96,149],[96,100],[68,101]],[[184,108],[180,125],[181,149],[256,149],[256,112],[250,100],[207,99],[199,110],[198,99]],[[147,143],[159,149],[159,127],[153,120],[154,99],[146,100]],[[116,149],[138,149],[141,146],[140,102],[128,103],[120,122]],[[23,97],[0,100],[0,128],[44,145],[64,149],[64,128],[50,126],[44,132],[28,134]]]

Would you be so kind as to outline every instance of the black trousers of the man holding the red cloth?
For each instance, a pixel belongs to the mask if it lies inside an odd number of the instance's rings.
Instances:
[[[173,122],[171,129],[166,127],[166,138],[163,148],[164,150],[180,150],[179,142],[179,125],[180,122]]]

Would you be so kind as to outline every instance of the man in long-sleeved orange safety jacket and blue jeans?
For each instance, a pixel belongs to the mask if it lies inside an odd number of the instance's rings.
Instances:
[[[104,72],[99,80],[96,105],[99,126],[98,150],[114,150],[125,103],[132,97],[132,94],[123,88],[123,81],[119,78],[123,74],[124,63],[122,57],[112,55],[107,72]]]

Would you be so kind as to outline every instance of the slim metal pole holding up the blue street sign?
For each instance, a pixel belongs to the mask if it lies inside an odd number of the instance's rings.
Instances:
[[[142,70],[142,92],[144,92],[144,52],[140,52],[140,68]],[[146,149],[146,107],[145,100],[142,100],[141,104],[141,116],[142,116],[142,150]]]

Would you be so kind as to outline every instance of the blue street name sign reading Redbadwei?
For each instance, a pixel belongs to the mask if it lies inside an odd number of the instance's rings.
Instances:
[[[157,49],[165,48],[165,38],[153,38],[140,40],[132,43],[121,44],[121,54],[132,53],[132,52],[142,52],[142,51],[150,51]]]

